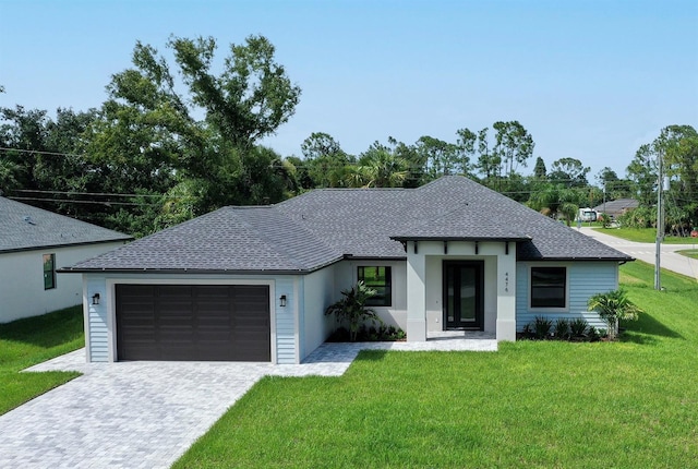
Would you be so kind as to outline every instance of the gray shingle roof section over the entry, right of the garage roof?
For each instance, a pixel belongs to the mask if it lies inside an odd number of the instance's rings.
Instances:
[[[631,260],[459,176],[418,189],[316,190],[279,208],[356,257],[405,257],[402,240],[490,239],[519,241],[519,260]]]

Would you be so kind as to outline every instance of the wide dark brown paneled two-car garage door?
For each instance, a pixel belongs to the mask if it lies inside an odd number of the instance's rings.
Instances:
[[[119,360],[270,361],[269,287],[116,286]]]

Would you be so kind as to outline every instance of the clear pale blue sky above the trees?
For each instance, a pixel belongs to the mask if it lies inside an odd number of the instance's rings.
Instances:
[[[698,128],[695,0],[0,0],[0,106],[51,112],[98,107],[136,40],[213,36],[222,59],[264,35],[302,88],[264,142],[284,156],[312,132],[359,154],[518,120],[549,169],[577,158],[593,182],[663,127]]]

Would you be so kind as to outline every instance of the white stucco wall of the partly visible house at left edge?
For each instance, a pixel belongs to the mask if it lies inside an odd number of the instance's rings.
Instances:
[[[79,274],[57,274],[56,288],[44,289],[44,254],[56,254],[56,268],[111,251],[123,242],[49,248],[0,254],[0,323],[37,316],[82,302]]]

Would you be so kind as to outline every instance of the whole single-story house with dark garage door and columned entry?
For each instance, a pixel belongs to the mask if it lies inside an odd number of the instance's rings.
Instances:
[[[225,207],[65,272],[83,274],[91,361],[298,363],[358,280],[410,341],[452,328],[515,340],[537,315],[601,326],[587,300],[617,288],[631,260],[454,176]]]

